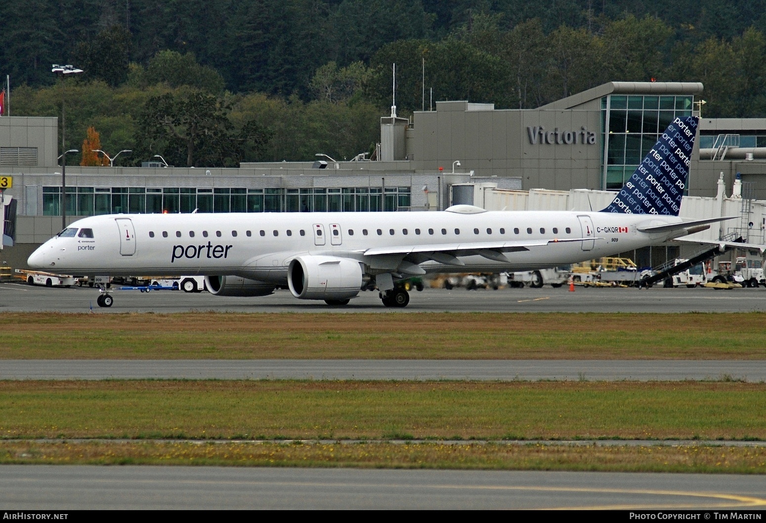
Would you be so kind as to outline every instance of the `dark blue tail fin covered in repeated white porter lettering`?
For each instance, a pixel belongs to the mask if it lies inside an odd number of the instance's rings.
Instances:
[[[696,116],[676,118],[601,212],[678,216],[697,135]]]

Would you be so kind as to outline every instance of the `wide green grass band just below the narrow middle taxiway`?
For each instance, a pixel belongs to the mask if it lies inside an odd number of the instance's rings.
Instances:
[[[0,381],[5,440],[766,440],[764,412],[725,381]]]

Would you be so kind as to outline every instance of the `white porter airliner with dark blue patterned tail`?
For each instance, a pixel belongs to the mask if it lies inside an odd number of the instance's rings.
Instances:
[[[728,218],[678,211],[697,119],[676,119],[602,211],[110,214],[75,221],[31,254],[29,266],[111,276],[204,275],[216,296],[267,296],[345,305],[377,288],[404,307],[404,278],[425,273],[536,270],[659,244]],[[101,289],[102,307],[113,298]]]

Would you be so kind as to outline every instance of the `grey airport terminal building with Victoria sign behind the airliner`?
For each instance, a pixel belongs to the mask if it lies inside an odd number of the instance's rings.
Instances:
[[[714,198],[721,174],[731,187],[740,173],[743,197],[766,200],[766,119],[705,119],[702,93],[702,83],[611,82],[533,110],[437,102],[410,119],[382,117],[375,161],[67,165],[67,223],[195,210],[433,211],[489,207],[489,191],[614,191],[676,116],[700,116],[701,109],[689,196]],[[59,145],[55,116],[0,117],[0,176],[12,177],[5,195],[15,201],[5,206],[5,258],[8,244],[26,252],[61,230]]]

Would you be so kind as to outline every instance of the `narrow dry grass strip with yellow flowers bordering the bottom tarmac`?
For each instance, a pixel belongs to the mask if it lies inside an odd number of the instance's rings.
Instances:
[[[2,442],[0,463],[762,474],[764,447],[525,443]]]

